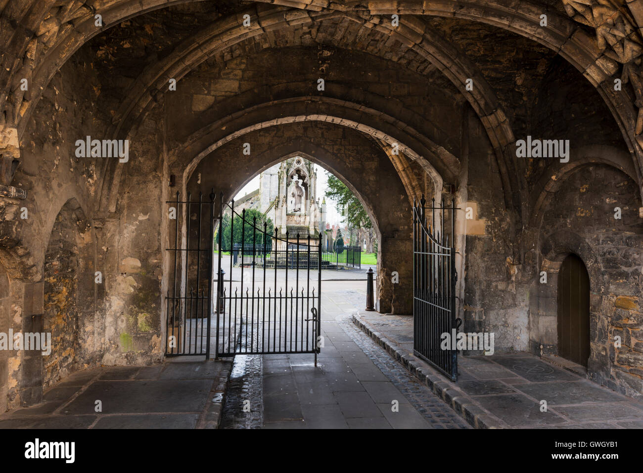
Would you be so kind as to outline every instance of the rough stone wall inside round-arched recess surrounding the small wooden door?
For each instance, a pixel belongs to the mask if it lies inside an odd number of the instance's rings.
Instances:
[[[557,273],[570,253],[590,274],[590,376],[613,389],[643,391],[643,222],[637,186],[606,165],[583,166],[548,198],[540,227],[540,271],[547,284],[534,284],[530,348],[557,353]],[[621,219],[615,219],[615,208]],[[615,348],[615,336],[622,346]]]

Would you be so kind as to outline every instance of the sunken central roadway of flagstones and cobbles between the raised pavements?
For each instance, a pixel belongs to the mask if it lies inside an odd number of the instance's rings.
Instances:
[[[352,324],[365,281],[326,281],[313,355],[237,356],[222,428],[467,429],[465,420]],[[244,409],[244,406],[246,408]]]

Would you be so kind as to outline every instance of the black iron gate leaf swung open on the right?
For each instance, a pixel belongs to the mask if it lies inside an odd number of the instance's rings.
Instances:
[[[455,204],[413,205],[413,352],[451,380],[458,377],[455,312]],[[426,210],[431,210],[427,226]],[[444,226],[445,213],[450,231]],[[436,228],[439,225],[439,228]],[[450,242],[449,242],[450,238]]]

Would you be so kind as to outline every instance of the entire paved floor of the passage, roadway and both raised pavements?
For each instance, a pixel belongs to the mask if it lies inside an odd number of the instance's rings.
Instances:
[[[412,317],[365,312],[363,272],[345,274],[323,281],[318,366],[312,354],[275,354],[79,371],[41,404],[1,415],[0,428],[643,427],[643,403],[561,360],[460,356],[458,381],[446,380],[413,355]]]

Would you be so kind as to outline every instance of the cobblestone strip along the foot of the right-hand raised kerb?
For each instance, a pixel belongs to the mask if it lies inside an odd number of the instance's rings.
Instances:
[[[383,348],[359,330],[350,316],[340,319],[340,326],[361,348],[395,388],[408,399],[410,404],[431,423],[434,429],[471,429],[451,406],[437,397],[420,380],[413,377],[401,364],[395,361]]]

